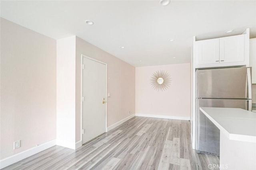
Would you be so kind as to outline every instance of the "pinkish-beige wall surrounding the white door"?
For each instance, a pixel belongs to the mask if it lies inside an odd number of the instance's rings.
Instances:
[[[76,37],[76,142],[81,139],[81,55],[108,64],[107,126],[135,113],[135,67]]]

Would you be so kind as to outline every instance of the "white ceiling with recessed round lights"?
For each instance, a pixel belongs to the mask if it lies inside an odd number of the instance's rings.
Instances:
[[[250,27],[250,37],[256,37],[255,0],[178,0],[168,6],[158,0],[1,1],[0,5],[2,18],[54,39],[77,35],[133,66],[190,63],[194,35],[209,39],[237,35]],[[228,29],[234,31],[224,33]],[[168,41],[171,38],[174,41]]]

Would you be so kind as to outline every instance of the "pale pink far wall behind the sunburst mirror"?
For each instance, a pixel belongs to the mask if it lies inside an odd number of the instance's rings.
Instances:
[[[157,70],[167,71],[172,80],[163,92],[150,85]],[[136,67],[136,114],[190,118],[190,63]]]

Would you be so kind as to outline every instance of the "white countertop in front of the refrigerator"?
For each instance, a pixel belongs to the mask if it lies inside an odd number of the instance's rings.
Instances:
[[[256,113],[239,108],[200,107],[230,140],[256,143]]]

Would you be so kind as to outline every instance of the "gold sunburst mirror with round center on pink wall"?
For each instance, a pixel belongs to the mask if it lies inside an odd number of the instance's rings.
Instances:
[[[150,84],[154,90],[167,90],[171,84],[170,74],[164,70],[157,70],[150,77]]]

